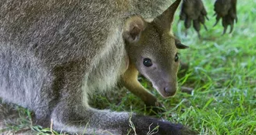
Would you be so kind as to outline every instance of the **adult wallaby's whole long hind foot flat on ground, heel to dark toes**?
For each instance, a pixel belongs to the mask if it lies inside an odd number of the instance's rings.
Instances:
[[[167,121],[151,118],[144,115],[130,115],[128,112],[110,112],[97,110],[83,105],[70,105],[62,101],[52,114],[54,128],[69,133],[85,133],[97,135],[146,135],[156,126],[156,135],[194,134],[180,124],[172,124]],[[133,125],[133,126],[132,126]],[[134,130],[132,130],[134,127]],[[157,132],[155,130],[155,132]]]

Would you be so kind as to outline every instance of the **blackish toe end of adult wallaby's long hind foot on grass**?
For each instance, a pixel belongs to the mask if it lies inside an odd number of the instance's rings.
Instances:
[[[133,129],[138,135],[151,134],[155,135],[196,135],[193,130],[188,129],[181,124],[173,124],[168,121],[151,118],[143,115],[133,115],[131,119]]]

